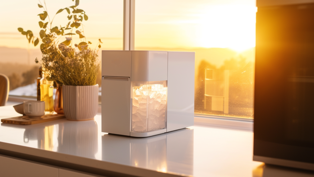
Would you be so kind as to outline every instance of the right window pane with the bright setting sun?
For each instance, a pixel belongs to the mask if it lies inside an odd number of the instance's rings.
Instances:
[[[253,118],[255,0],[136,0],[135,50],[195,52],[195,113]]]

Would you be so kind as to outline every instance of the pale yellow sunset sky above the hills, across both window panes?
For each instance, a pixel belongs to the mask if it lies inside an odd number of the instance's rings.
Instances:
[[[37,14],[42,9],[37,3],[38,0],[2,2],[0,46],[39,49],[39,45],[36,48],[28,45],[26,37],[17,31],[22,27],[39,36]],[[73,2],[46,0],[46,5],[53,17]],[[136,0],[135,46],[216,47],[241,52],[255,46],[255,6],[255,0]],[[122,49],[123,0],[80,0],[79,9],[85,10],[89,17],[83,21],[88,41],[95,44],[101,38],[102,49]],[[53,26],[65,26],[67,15],[65,11],[57,14]]]

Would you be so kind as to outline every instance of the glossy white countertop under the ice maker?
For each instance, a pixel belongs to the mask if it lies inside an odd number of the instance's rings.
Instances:
[[[19,116],[0,107],[0,119]],[[95,121],[65,119],[0,126],[0,153],[95,174],[134,176],[272,177],[312,172],[252,161],[253,133],[193,126],[147,138],[101,132]],[[289,175],[288,175],[289,176]],[[295,175],[294,175],[295,176]]]

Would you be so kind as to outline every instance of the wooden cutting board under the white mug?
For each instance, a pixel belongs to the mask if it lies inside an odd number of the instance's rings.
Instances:
[[[11,123],[18,125],[32,125],[36,123],[43,123],[54,121],[58,119],[64,119],[65,116],[63,114],[47,114],[41,117],[28,117],[28,116],[19,116],[19,117],[11,117],[6,119],[1,119],[3,123]]]

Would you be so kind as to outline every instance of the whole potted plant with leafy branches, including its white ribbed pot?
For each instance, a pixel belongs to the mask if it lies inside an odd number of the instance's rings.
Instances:
[[[74,1],[74,0],[72,0]],[[39,14],[41,21],[38,22],[41,31],[39,37],[35,37],[30,30],[18,30],[26,36],[29,43],[34,46],[41,41],[42,52],[41,66],[43,71],[49,74],[50,79],[58,83],[57,89],[63,93],[56,93],[55,101],[63,102],[63,112],[68,120],[89,120],[93,119],[98,110],[98,84],[96,84],[97,71],[100,67],[97,51],[100,49],[101,40],[98,40],[96,49],[90,49],[90,41],[86,41],[82,22],[88,20],[85,11],[78,9],[79,0],[75,0],[75,5],[60,9],[55,16],[65,10],[69,21],[63,27],[53,26],[53,18],[47,13],[46,3],[38,4],[43,8]],[[75,31],[75,32],[74,32]],[[80,42],[74,44],[72,37],[78,36]],[[61,43],[59,41],[65,38]],[[39,60],[35,59],[36,63]],[[61,96],[62,95],[62,96]],[[60,99],[62,99],[60,101]],[[56,104],[56,102],[55,102]],[[56,107],[56,106],[55,106]]]

